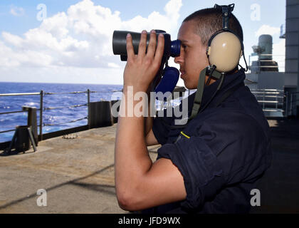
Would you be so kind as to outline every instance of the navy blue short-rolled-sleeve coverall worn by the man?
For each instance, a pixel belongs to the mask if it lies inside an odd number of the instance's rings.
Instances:
[[[255,96],[244,85],[244,79],[242,70],[226,76],[215,98],[184,129],[169,127],[174,125],[174,117],[164,115],[154,119],[152,130],[162,144],[157,159],[170,159],[178,167],[184,177],[187,198],[144,212],[250,211],[250,192],[270,167],[272,152],[268,121]],[[215,107],[217,100],[238,84],[240,86]],[[209,101],[218,86],[219,81],[216,81],[204,88],[201,107]],[[189,113],[194,95],[189,95]],[[179,135],[181,138],[177,140]]]

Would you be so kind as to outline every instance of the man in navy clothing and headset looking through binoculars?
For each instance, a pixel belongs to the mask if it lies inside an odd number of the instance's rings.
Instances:
[[[199,90],[200,76],[204,75],[200,108],[187,125],[174,127],[171,117],[133,115],[118,119],[115,187],[122,209],[146,209],[144,212],[150,213],[249,212],[250,192],[271,162],[269,128],[256,98],[244,86],[243,68],[239,70],[238,61],[231,63],[229,57],[235,46],[240,50],[233,50],[232,56],[239,59],[243,52],[241,25],[233,14],[227,24],[224,15],[224,8],[202,9],[188,16],[179,28],[182,46],[174,61],[180,66],[185,86]],[[215,42],[227,35],[225,23],[241,44],[235,37],[229,38],[233,46],[228,54],[221,50],[215,54]],[[220,36],[217,31],[221,31]],[[125,110],[125,103],[140,103],[133,99],[134,94],[148,91],[163,51],[162,34],[156,40],[155,31],[151,31],[147,47],[147,31],[142,31],[137,55],[132,36],[127,35],[121,108]],[[220,56],[220,62],[211,64],[212,55]],[[233,67],[226,70],[230,65]],[[208,66],[212,71],[206,70]],[[214,74],[218,70],[219,77]],[[128,88],[133,90],[131,95]],[[198,105],[196,94],[188,99],[193,106]],[[162,147],[157,161],[152,162],[147,145],[156,144]]]

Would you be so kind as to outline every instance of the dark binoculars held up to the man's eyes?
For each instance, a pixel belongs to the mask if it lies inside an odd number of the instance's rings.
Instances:
[[[171,41],[169,33],[162,30],[155,30],[157,38],[160,33],[164,34],[164,58],[177,57],[180,54],[181,41]],[[141,33],[135,33],[131,31],[114,31],[112,38],[112,48],[115,55],[120,55],[121,61],[127,61],[127,33],[132,35],[132,43],[135,54],[138,53],[138,46],[140,43]],[[150,33],[147,33],[147,46],[150,43]]]

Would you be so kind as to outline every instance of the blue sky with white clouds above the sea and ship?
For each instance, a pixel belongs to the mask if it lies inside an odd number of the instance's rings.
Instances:
[[[189,14],[231,3],[243,26],[247,61],[258,36],[271,34],[283,69],[284,0],[1,0],[0,81],[122,84],[125,62],[112,53],[113,31],[162,29],[174,40]],[[179,68],[173,58],[169,65]]]

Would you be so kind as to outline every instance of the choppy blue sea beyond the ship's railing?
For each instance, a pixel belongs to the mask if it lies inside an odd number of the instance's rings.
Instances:
[[[78,91],[97,91],[90,93],[90,102],[100,100],[120,99],[122,85],[95,85],[95,84],[54,84],[54,83],[2,83],[0,93],[58,93],[43,95],[43,108],[58,108],[43,110],[43,134],[66,128],[87,125],[88,120],[88,94],[70,93]],[[40,95],[14,95],[0,96],[0,113],[20,111],[22,106],[40,108]],[[71,107],[72,105],[83,105]],[[38,125],[39,111],[37,111]],[[73,120],[82,119],[73,123]],[[27,125],[27,113],[0,114],[0,132],[13,130],[17,125]],[[38,129],[39,134],[39,129]],[[10,141],[14,131],[0,134],[0,142]]]

